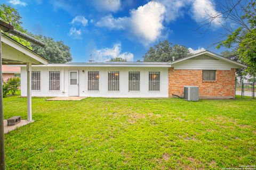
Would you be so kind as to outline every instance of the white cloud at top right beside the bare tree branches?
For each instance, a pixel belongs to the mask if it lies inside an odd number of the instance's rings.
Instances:
[[[210,16],[217,16],[220,14],[215,10],[215,5],[212,0],[195,0],[192,4],[191,11],[193,13],[192,18],[198,23],[209,20]],[[212,21],[213,26],[218,26],[220,24],[221,14]]]

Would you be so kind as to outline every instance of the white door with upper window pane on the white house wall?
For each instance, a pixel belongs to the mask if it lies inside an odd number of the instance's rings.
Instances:
[[[68,95],[79,96],[78,70],[69,70]]]

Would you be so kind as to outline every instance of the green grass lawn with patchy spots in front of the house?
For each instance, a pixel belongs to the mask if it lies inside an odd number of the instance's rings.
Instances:
[[[256,164],[256,100],[33,98],[5,134],[7,169],[220,169]],[[4,118],[26,119],[26,98]]]

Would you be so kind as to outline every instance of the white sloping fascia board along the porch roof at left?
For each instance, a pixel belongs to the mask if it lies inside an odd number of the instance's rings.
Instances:
[[[3,34],[2,34],[2,42],[19,50],[21,53],[33,58],[34,60],[38,61],[39,63],[45,64],[45,65],[48,64],[48,61],[46,59],[37,55],[36,53],[32,52],[31,50],[28,50],[26,47],[23,47],[19,43],[15,42],[14,40],[10,39],[9,37],[6,37]],[[37,63],[33,63],[33,64],[37,64]]]

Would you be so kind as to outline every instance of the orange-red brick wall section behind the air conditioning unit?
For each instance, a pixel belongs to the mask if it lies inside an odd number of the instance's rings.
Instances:
[[[235,69],[217,70],[215,81],[203,81],[202,70],[169,68],[169,97],[183,97],[184,86],[199,86],[200,98],[228,99],[235,96]]]

